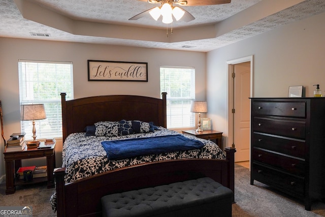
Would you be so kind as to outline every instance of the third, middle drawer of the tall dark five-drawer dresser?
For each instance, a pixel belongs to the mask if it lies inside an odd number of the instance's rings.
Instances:
[[[305,140],[279,138],[274,136],[252,133],[252,147],[264,148],[290,156],[305,158]]]

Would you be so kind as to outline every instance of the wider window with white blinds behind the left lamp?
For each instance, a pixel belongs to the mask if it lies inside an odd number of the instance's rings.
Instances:
[[[71,62],[19,60],[20,104],[44,104],[46,119],[36,120],[36,136],[62,137],[61,92],[73,99]],[[32,138],[32,121],[20,121],[26,139]]]

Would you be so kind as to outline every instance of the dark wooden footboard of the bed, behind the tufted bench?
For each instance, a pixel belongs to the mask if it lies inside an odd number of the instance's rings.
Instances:
[[[235,148],[226,160],[186,159],[146,163],[64,183],[64,168],[54,171],[57,216],[101,216],[101,197],[178,181],[210,177],[234,191]]]

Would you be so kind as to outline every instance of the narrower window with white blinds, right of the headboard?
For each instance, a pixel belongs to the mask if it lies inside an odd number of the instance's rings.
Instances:
[[[195,69],[160,67],[160,90],[167,92],[167,127],[195,127],[195,114],[190,112],[195,99]]]

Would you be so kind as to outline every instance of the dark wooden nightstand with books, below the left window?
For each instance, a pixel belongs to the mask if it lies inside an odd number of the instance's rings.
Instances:
[[[22,151],[4,152],[4,156],[6,162],[6,195],[14,194],[16,185],[47,181],[47,188],[54,188],[55,143],[45,148],[25,148]],[[19,180],[16,177],[16,171],[21,167],[21,160],[42,157],[46,157],[47,177],[33,178],[30,182]]]

